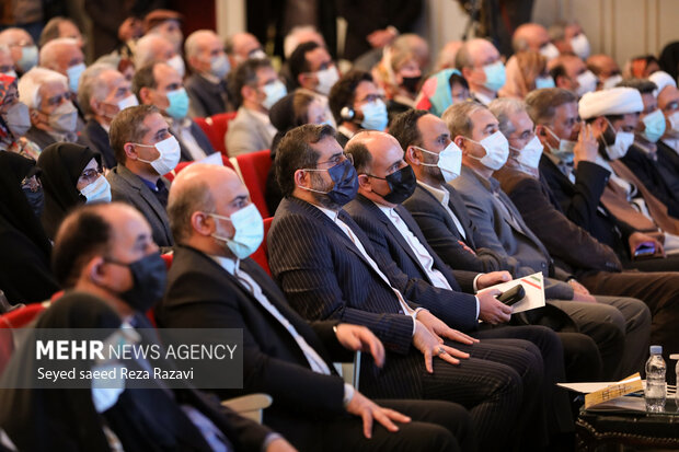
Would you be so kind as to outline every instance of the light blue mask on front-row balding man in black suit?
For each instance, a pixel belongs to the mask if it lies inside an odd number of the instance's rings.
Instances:
[[[231,217],[223,217],[217,213],[208,213],[218,220],[230,221],[235,230],[233,237],[214,233],[212,236],[221,242],[238,257],[244,259],[253,254],[264,240],[264,221],[254,204],[249,204],[244,208],[231,213]]]

